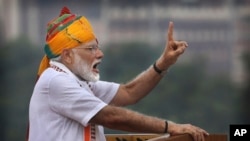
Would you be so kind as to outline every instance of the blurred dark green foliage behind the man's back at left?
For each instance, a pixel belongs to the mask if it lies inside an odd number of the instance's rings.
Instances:
[[[1,63],[1,140],[24,140],[28,105],[41,56],[28,40],[22,38],[0,48]]]

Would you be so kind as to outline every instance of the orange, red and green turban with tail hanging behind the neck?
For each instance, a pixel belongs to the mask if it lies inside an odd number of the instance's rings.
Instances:
[[[59,17],[47,24],[46,44],[38,77],[49,67],[49,59],[60,56],[64,49],[79,46],[82,43],[96,39],[91,24],[84,16],[71,14],[67,7],[63,7]]]

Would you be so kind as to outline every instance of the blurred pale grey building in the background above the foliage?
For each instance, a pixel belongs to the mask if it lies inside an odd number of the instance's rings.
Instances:
[[[101,44],[162,46],[173,21],[175,38],[189,43],[185,57],[199,54],[209,60],[208,72],[226,72],[239,82],[244,77],[240,54],[250,40],[248,0],[0,0],[5,38],[26,35],[42,46],[47,22],[63,6],[85,15]]]

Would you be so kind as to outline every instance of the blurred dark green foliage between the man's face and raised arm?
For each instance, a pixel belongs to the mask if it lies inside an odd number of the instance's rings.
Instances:
[[[120,83],[129,81],[146,69],[157,56],[155,48],[143,43],[111,44],[105,49],[101,65],[102,79]]]

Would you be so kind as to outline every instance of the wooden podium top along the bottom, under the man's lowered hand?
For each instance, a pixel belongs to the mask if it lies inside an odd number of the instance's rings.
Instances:
[[[189,134],[106,134],[107,141],[194,141]],[[210,134],[205,141],[228,141],[226,134]]]

